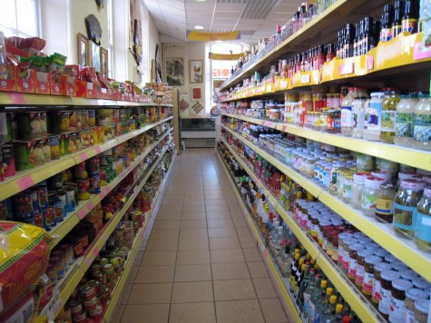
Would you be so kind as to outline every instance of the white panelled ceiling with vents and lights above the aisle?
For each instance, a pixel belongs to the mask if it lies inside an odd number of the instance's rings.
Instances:
[[[303,1],[303,0],[302,0]],[[143,0],[163,39],[185,41],[186,31],[240,30],[243,43],[275,34],[298,10],[301,0]]]

